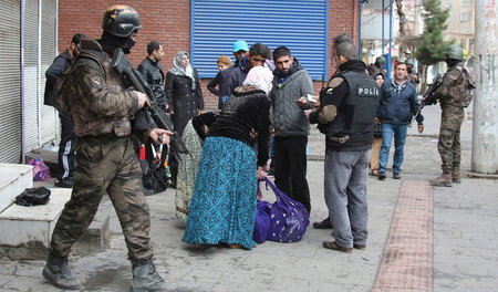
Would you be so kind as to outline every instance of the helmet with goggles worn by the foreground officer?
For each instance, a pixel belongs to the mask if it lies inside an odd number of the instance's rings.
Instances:
[[[141,18],[134,8],[113,6],[107,8],[102,18],[102,29],[114,36],[128,38],[142,29]]]

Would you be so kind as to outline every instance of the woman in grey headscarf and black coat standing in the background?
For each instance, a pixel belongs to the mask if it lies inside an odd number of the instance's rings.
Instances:
[[[173,67],[166,74],[166,98],[175,132],[181,136],[188,121],[204,109],[203,91],[197,71],[190,65],[188,53],[180,51],[173,60]],[[176,188],[178,163],[176,154],[169,155],[172,185]]]

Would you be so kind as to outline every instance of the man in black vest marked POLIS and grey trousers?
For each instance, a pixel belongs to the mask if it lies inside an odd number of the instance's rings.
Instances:
[[[378,86],[352,41],[335,41],[333,51],[339,71],[321,91],[320,107],[304,114],[326,136],[324,192],[335,241],[323,247],[351,252],[366,246],[366,178]]]

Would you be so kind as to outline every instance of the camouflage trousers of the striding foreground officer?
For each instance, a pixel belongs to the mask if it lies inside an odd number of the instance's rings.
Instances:
[[[153,257],[149,244],[149,208],[142,190],[142,170],[129,136],[103,135],[79,138],[71,199],[52,234],[51,252],[66,257],[89,228],[107,194],[123,229],[128,258]]]

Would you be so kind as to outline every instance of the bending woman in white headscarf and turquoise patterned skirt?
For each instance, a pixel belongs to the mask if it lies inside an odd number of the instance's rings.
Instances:
[[[266,176],[272,73],[256,66],[219,115],[194,118],[205,138],[183,241],[251,249],[257,178]],[[253,149],[257,143],[257,154]]]

